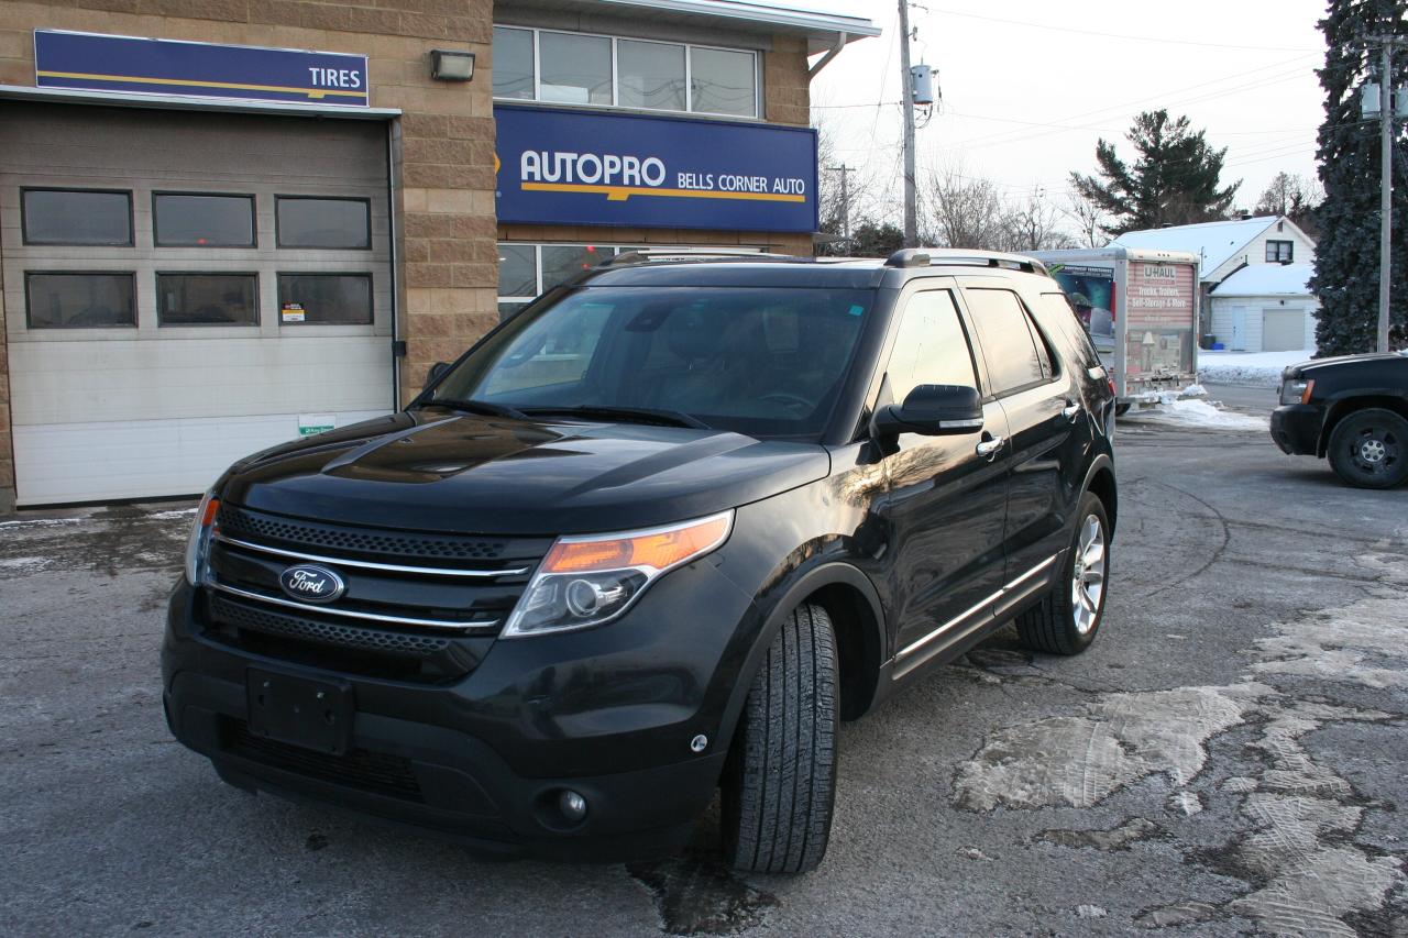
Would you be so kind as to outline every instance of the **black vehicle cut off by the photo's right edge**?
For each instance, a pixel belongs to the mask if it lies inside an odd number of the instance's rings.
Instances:
[[[1271,439],[1287,455],[1324,456],[1352,486],[1408,480],[1408,352],[1290,365]]]

